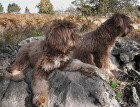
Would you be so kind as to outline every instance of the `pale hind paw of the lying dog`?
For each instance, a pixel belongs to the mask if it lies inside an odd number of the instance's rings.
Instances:
[[[25,79],[25,75],[21,71],[14,71],[11,74],[12,81],[23,81]]]

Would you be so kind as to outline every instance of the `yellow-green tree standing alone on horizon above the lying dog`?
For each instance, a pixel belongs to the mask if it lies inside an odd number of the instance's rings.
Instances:
[[[53,5],[50,3],[50,0],[41,0],[37,8],[39,13],[54,14]]]

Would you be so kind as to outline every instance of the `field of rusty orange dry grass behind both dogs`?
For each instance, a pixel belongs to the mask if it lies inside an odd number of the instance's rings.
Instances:
[[[46,14],[0,14],[0,43],[14,43],[31,37],[40,36],[47,33],[48,26],[55,19],[66,18],[79,24],[79,34],[83,35],[86,32],[94,30],[100,24],[95,24],[94,21],[99,17],[81,17],[81,16],[60,16]],[[140,23],[140,19],[133,17],[135,22]],[[126,39],[140,41],[140,32],[134,31]]]

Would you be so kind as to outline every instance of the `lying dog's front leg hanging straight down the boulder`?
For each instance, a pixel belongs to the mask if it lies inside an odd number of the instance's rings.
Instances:
[[[33,72],[33,104],[37,107],[44,107],[48,102],[49,97],[49,83],[46,72],[36,69]]]

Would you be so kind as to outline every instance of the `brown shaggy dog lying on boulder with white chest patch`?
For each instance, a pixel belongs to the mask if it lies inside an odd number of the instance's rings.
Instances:
[[[85,73],[94,71],[94,67],[72,60],[70,51],[77,45],[80,37],[76,34],[77,25],[66,21],[54,21],[45,40],[34,41],[21,47],[10,72],[15,81],[25,78],[23,70],[28,66],[33,72],[33,103],[37,106],[48,101],[48,77],[51,71],[64,68],[71,71],[81,69]],[[73,66],[74,65],[74,66]]]

